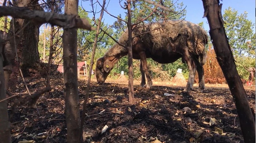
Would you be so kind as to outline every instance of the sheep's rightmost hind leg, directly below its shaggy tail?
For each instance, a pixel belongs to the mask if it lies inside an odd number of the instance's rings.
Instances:
[[[195,64],[197,66],[197,73],[199,79],[199,88],[197,89],[197,92],[202,93],[203,90],[205,89],[204,68],[198,59],[195,59]]]

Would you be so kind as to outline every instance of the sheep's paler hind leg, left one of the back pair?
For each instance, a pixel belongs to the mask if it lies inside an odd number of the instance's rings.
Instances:
[[[193,84],[195,81],[196,65],[195,62],[192,60],[192,57],[190,56],[188,49],[186,49],[184,54],[184,60],[186,61],[187,66],[189,68],[189,79],[187,81],[187,86],[183,91],[189,92],[193,88]]]

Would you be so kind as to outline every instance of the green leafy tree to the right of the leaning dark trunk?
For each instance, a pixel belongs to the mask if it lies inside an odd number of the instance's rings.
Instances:
[[[239,14],[237,10],[228,7],[224,10],[223,20],[229,44],[235,57],[238,74],[248,79],[246,68],[255,67],[255,24],[247,19],[247,12]]]

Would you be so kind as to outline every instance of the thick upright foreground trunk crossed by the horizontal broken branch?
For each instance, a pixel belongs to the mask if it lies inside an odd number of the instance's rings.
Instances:
[[[64,12],[77,15],[78,0],[65,1]],[[63,30],[62,42],[67,143],[78,143],[81,122],[77,78],[77,28]]]

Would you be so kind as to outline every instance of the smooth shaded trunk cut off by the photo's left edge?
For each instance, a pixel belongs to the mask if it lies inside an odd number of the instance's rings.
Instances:
[[[0,39],[0,42],[2,39]],[[1,42],[2,43],[2,42]],[[2,51],[2,44],[0,51]],[[4,69],[3,69],[3,57],[0,53],[0,101],[6,98],[5,84],[4,84]],[[0,143],[11,143],[10,122],[8,118],[7,100],[0,102]]]

